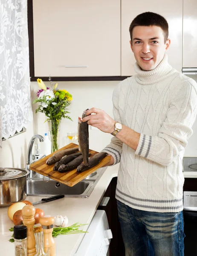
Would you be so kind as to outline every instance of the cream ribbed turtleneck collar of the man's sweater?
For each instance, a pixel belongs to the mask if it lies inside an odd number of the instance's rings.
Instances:
[[[172,67],[168,64],[168,55],[165,53],[162,61],[154,70],[142,70],[137,62],[134,65],[134,70],[137,73],[136,81],[139,84],[154,84],[169,76]]]

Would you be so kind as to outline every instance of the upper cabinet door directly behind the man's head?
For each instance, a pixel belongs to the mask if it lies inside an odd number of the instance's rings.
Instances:
[[[193,0],[195,1],[195,0]],[[182,0],[166,0],[158,2],[137,1],[133,3],[130,0],[121,1],[121,75],[133,76],[135,71],[133,65],[136,60],[130,49],[130,33],[129,26],[132,20],[142,12],[156,12],[168,21],[169,38],[171,39],[170,48],[167,51],[168,62],[176,70],[182,70]]]

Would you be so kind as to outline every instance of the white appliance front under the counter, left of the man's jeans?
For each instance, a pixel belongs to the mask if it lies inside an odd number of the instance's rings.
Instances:
[[[97,210],[74,256],[109,256],[112,232],[104,210]]]

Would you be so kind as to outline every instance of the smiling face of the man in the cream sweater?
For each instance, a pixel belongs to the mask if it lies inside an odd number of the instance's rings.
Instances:
[[[162,61],[170,39],[164,42],[159,26],[135,26],[130,47],[142,70],[153,70]]]

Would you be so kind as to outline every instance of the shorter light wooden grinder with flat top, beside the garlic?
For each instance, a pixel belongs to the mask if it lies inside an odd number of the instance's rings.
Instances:
[[[49,250],[49,256],[55,256],[55,241],[52,237],[54,221],[52,216],[43,216],[39,221],[43,227],[44,252]]]

